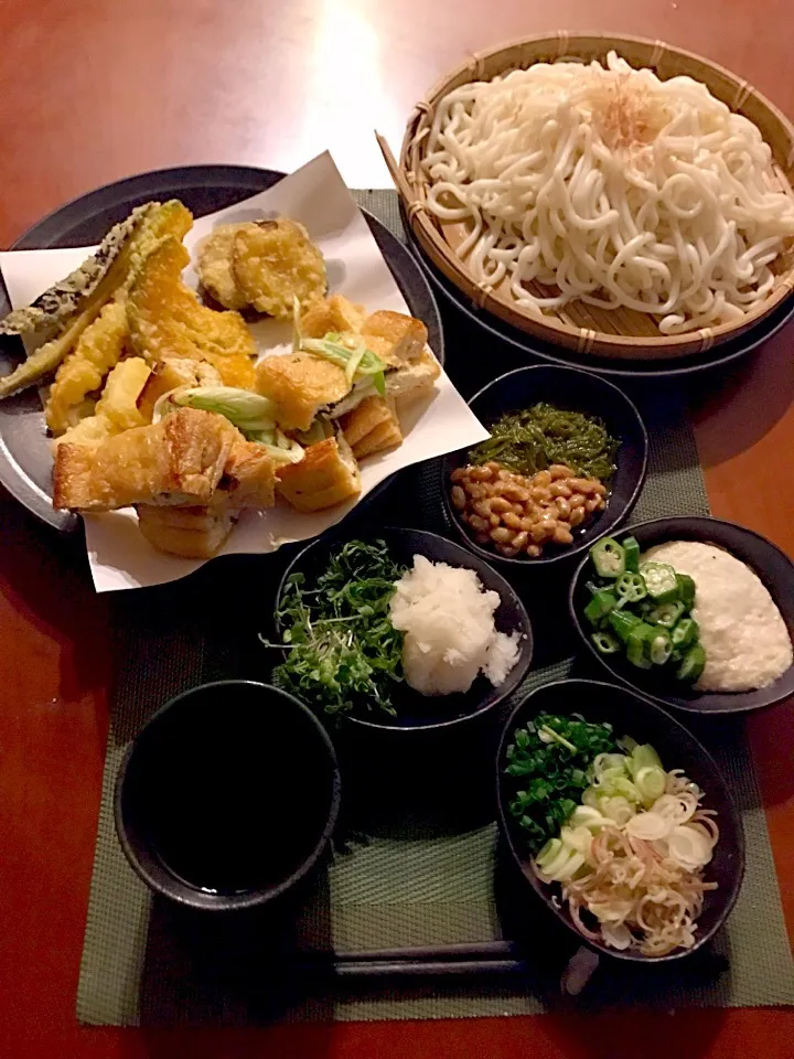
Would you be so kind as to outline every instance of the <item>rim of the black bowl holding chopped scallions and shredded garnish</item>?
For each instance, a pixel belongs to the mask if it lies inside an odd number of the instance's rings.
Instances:
[[[623,692],[629,695],[632,695],[634,698],[637,699],[641,706],[645,708],[650,707],[665,721],[665,724],[668,724],[670,728],[680,729],[682,731],[684,731],[686,734],[686,737],[690,739],[697,747],[698,755],[708,762],[709,768],[712,769],[717,773],[717,775],[720,777],[720,780],[722,781],[722,787],[725,788],[725,791],[727,794],[727,804],[729,806],[730,815],[734,824],[734,831],[737,836],[736,852],[739,858],[739,870],[736,875],[733,885],[728,895],[725,908],[719,916],[719,919],[713,923],[713,926],[708,931],[697,937],[695,944],[691,946],[691,949],[675,950],[673,952],[666,953],[666,955],[664,956],[646,956],[639,952],[632,953],[632,952],[623,951],[620,949],[610,949],[605,944],[602,945],[598,942],[592,942],[589,938],[586,938],[584,934],[579,933],[576,927],[568,921],[568,919],[564,913],[562,907],[558,908],[556,905],[554,905],[550,898],[548,899],[545,898],[540,894],[539,889],[535,888],[535,886],[533,885],[533,880],[527,877],[527,874],[524,870],[524,867],[522,865],[522,859],[527,859],[527,858],[522,857],[522,855],[519,854],[519,851],[516,848],[513,842],[509,822],[507,820],[507,816],[505,815],[504,805],[502,802],[502,783],[501,783],[500,764],[502,762],[502,757],[505,751],[506,744],[509,739],[511,729],[515,726],[516,717],[524,709],[524,707],[526,706],[526,703],[529,702],[529,699],[532,699],[533,696],[539,693],[546,692],[550,687],[570,687],[571,685],[579,685],[580,687],[598,686],[599,688],[603,688],[608,692],[618,691],[618,692]],[[549,911],[556,917],[558,922],[562,923],[565,927],[568,928],[568,930],[578,939],[581,945],[584,945],[591,951],[597,952],[599,955],[607,956],[610,960],[621,960],[624,963],[637,963],[637,964],[645,964],[647,966],[655,966],[657,964],[663,964],[663,963],[674,963],[678,960],[685,960],[688,956],[691,956],[699,949],[702,949],[702,946],[707,944],[713,938],[713,935],[723,928],[726,921],[728,920],[728,917],[732,912],[733,907],[736,906],[736,902],[739,898],[739,891],[741,890],[742,881],[744,878],[744,871],[747,868],[747,843],[744,839],[744,826],[742,824],[741,813],[739,812],[737,801],[733,798],[733,794],[731,793],[728,782],[723,775],[722,769],[718,766],[713,756],[702,745],[702,742],[697,738],[697,736],[695,736],[691,731],[689,731],[686,725],[682,724],[680,720],[674,717],[670,713],[668,713],[657,703],[650,699],[647,695],[643,695],[642,693],[635,691],[635,688],[633,687],[615,685],[610,683],[609,681],[593,681],[586,677],[572,677],[570,680],[550,681],[548,684],[541,684],[540,687],[536,687],[532,692],[529,692],[529,694],[526,695],[521,700],[521,703],[518,703],[515,709],[511,712],[511,715],[505,721],[504,728],[502,730],[502,736],[500,737],[500,744],[498,744],[498,750],[496,751],[495,763],[496,763],[496,806],[497,806],[497,813],[498,813],[498,817],[497,817],[498,827],[500,827],[501,836],[505,841],[507,848],[509,849],[509,854],[513,859],[513,863],[518,868],[521,874],[524,876],[524,879],[526,880],[527,885],[532,888],[533,892],[536,894],[538,900],[541,900],[544,902],[546,908],[548,908]]]

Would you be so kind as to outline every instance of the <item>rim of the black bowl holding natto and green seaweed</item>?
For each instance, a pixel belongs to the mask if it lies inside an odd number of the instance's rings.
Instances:
[[[612,533],[613,531],[620,530],[625,524],[626,520],[631,516],[631,513],[634,510],[634,506],[640,498],[642,488],[645,484],[645,478],[647,477],[647,464],[648,464],[647,427],[645,426],[645,420],[640,415],[640,409],[637,408],[637,406],[634,404],[631,397],[629,397],[627,394],[625,394],[620,388],[620,386],[616,386],[614,383],[610,382],[607,378],[601,378],[598,375],[593,375],[592,372],[584,371],[583,368],[567,367],[567,366],[564,366],[562,364],[528,364],[525,367],[514,367],[512,371],[505,372],[503,375],[498,375],[496,378],[492,379],[490,383],[486,383],[484,386],[482,386],[474,394],[474,396],[466,402],[466,404],[469,405],[470,408],[472,408],[474,402],[479,397],[487,393],[490,389],[493,389],[500,383],[504,383],[505,379],[511,378],[514,375],[525,375],[527,372],[550,372],[550,373],[552,372],[555,374],[559,372],[567,375],[577,375],[580,377],[583,376],[588,379],[592,379],[593,385],[596,387],[603,386],[608,391],[611,391],[614,395],[616,395],[618,400],[624,402],[626,411],[635,419],[640,430],[640,435],[642,437],[643,451],[642,451],[642,467],[640,469],[640,475],[637,478],[636,485],[632,490],[631,496],[626,501],[625,506],[621,512],[621,514],[619,515],[618,520],[611,526],[604,530],[602,533],[597,533],[593,537],[591,537],[588,541],[580,541],[579,543],[575,541],[573,544],[566,552],[560,552],[557,555],[550,555],[550,556],[540,555],[536,559],[530,559],[528,557],[522,559],[519,556],[508,557],[505,555],[500,555],[497,552],[487,552],[485,548],[479,545],[476,541],[469,535],[469,533],[466,532],[465,527],[463,526],[463,524],[461,523],[458,516],[458,512],[452,505],[450,491],[447,488],[446,475],[444,475],[444,483],[441,491],[444,511],[450,522],[452,523],[452,526],[454,527],[455,533],[463,541],[464,546],[469,548],[469,550],[478,555],[481,559],[485,559],[486,563],[490,563],[492,565],[504,564],[505,566],[514,570],[516,569],[527,570],[533,568],[548,569],[548,567],[551,567],[551,566],[570,563],[571,559],[580,555],[584,548],[591,547],[596,543],[596,541],[598,541],[599,537],[604,536],[605,534]],[[593,415],[596,415],[596,413],[593,413]],[[447,456],[441,457],[444,471],[449,469],[450,459],[452,456],[454,456],[454,453],[448,453]],[[618,453],[618,459],[620,460],[620,452]],[[607,511],[609,511],[609,505],[607,506]]]

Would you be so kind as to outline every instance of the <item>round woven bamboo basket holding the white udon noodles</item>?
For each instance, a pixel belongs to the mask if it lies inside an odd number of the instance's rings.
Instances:
[[[454,246],[465,233],[464,226],[442,224],[426,206],[428,189],[421,161],[434,108],[447,93],[468,82],[487,81],[534,63],[561,58],[605,60],[610,51],[615,51],[632,66],[651,67],[663,81],[686,74],[702,82],[713,96],[753,121],[772,148],[774,176],[782,190],[793,194],[794,126],[773,104],[745,81],[715,63],[661,41],[633,36],[559,32],[555,36],[533,36],[480,52],[440,81],[427,100],[417,104],[406,127],[399,163],[383,137],[378,136],[378,142],[419,245],[432,264],[476,306],[528,334],[578,353],[627,360],[702,353],[750,330],[792,297],[794,245],[790,244],[773,263],[775,285],[765,301],[741,320],[686,334],[663,335],[653,315],[632,309],[599,309],[575,301],[558,312],[545,312],[543,317],[530,313],[516,304],[508,290],[492,288],[473,276],[454,253]]]

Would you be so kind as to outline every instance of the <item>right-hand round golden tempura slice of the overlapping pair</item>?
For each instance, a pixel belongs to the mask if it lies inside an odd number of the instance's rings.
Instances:
[[[325,293],[325,261],[297,221],[257,221],[234,237],[232,268],[246,302],[280,320],[292,318],[294,299],[307,309]]]

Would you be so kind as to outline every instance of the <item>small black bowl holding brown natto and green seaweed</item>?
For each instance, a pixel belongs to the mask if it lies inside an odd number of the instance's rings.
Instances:
[[[469,402],[474,415],[486,427],[507,411],[527,408],[546,400],[560,408],[600,416],[613,438],[621,439],[605,511],[588,518],[575,531],[573,544],[568,547],[547,546],[536,559],[517,555],[506,558],[493,548],[482,547],[471,530],[462,522],[452,504],[450,474],[469,462],[469,450],[459,449],[443,459],[443,503],[463,544],[475,555],[511,573],[548,569],[570,563],[598,537],[622,525],[631,514],[640,495],[647,468],[647,431],[635,405],[623,391],[603,378],[573,367],[519,367],[501,375],[475,394]]]

